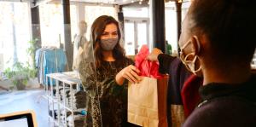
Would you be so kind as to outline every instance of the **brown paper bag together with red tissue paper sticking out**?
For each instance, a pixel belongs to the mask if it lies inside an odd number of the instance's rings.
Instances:
[[[158,63],[147,61],[148,47],[135,58],[143,80],[128,84],[128,122],[144,127],[166,127],[166,89],[168,78],[158,72]]]

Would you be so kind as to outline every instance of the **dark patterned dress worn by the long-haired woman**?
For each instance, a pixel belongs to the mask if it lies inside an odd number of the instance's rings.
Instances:
[[[116,74],[125,66],[133,64],[128,58],[103,61],[96,68],[92,62],[81,61],[80,78],[87,93],[85,126],[119,127],[127,121],[127,83],[118,85]]]

